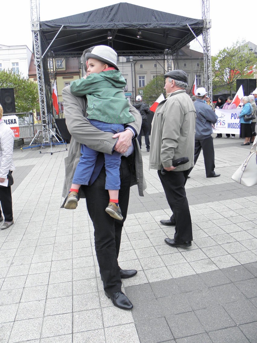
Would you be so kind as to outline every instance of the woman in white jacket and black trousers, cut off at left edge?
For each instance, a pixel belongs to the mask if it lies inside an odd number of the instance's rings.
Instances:
[[[9,171],[12,172],[15,169],[12,160],[13,142],[14,133],[4,122],[3,108],[0,105],[0,202],[2,208],[2,211],[0,209],[0,222],[3,221],[4,216],[4,223],[1,226],[1,230],[7,229],[13,224],[11,186],[5,187],[1,185],[8,178]]]

